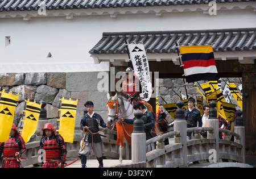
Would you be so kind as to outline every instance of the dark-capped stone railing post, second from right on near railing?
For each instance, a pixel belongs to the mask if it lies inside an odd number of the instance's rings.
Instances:
[[[215,139],[215,149],[216,150],[216,160],[213,160],[214,162],[218,162],[220,159],[219,156],[219,135],[218,135],[218,118],[217,118],[217,110],[214,109],[216,107],[216,102],[212,101],[209,103],[210,105],[210,110],[209,110],[209,119],[207,120],[207,127],[213,127],[213,132],[208,131],[207,132],[207,138],[208,139]]]

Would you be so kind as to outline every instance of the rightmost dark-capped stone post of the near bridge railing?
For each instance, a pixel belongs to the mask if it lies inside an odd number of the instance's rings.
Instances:
[[[234,141],[242,145],[241,155],[242,155],[243,163],[245,163],[245,127],[243,126],[243,119],[241,115],[242,115],[242,111],[238,110],[234,132],[240,135],[240,139],[235,138]]]

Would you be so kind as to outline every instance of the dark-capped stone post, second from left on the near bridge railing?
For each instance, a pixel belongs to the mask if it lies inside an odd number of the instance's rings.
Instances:
[[[183,158],[183,166],[187,167],[187,121],[185,120],[185,111],[183,110],[184,102],[179,100],[176,103],[176,119],[174,122],[174,131],[180,131],[180,134],[174,136],[175,143],[183,145],[181,156]]]

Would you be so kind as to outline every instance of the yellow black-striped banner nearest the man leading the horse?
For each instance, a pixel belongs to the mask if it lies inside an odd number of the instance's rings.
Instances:
[[[63,137],[65,142],[73,143],[78,99],[72,101],[71,98],[67,100],[63,97],[60,101],[60,119],[58,119],[60,127],[57,131],[59,131],[59,134]]]

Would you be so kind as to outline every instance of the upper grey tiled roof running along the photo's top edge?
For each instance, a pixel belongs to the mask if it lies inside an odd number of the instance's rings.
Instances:
[[[243,2],[254,0],[214,0],[217,3]],[[210,0],[0,0],[0,11],[38,10],[39,2],[46,2],[47,10],[93,9],[109,7],[144,7],[193,5],[209,3]]]

